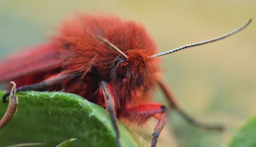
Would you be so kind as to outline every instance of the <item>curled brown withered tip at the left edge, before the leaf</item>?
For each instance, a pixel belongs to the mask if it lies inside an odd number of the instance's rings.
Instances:
[[[10,92],[8,108],[5,112],[5,115],[0,120],[0,129],[2,129],[3,127],[5,127],[8,124],[8,122],[12,119],[13,115],[15,114],[15,112],[17,111],[17,108],[18,108],[18,99],[15,94],[16,93],[16,84],[14,82],[10,82],[10,83],[13,84],[13,86],[12,86],[12,89]]]

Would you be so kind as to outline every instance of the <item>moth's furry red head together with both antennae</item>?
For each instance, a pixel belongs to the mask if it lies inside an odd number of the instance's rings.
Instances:
[[[169,50],[169,51],[158,53],[151,56],[148,56],[146,54],[147,50],[145,49],[133,49],[133,50],[127,50],[122,52],[121,50],[119,50],[119,48],[117,48],[114,44],[112,44],[107,39],[101,38],[99,36],[97,37],[102,42],[111,46],[111,48],[118,55],[115,58],[114,66],[111,71],[111,79],[113,79],[114,81],[120,81],[121,79],[126,83],[128,83],[130,87],[138,88],[138,87],[141,87],[141,85],[146,84],[146,81],[148,81],[149,78],[154,78],[154,66],[151,65],[150,61],[154,60],[155,58],[172,54],[172,53],[184,50],[185,48],[199,46],[199,45],[224,39],[226,37],[229,37],[245,29],[251,23],[251,21],[252,20],[250,19],[242,27],[236,30],[233,30],[225,35],[222,35],[220,37],[216,37],[213,39],[192,43],[188,45],[183,45],[175,48],[174,50]]]

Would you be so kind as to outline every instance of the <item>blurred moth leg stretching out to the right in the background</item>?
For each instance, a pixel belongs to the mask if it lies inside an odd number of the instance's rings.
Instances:
[[[167,100],[169,101],[169,104],[172,106],[172,108],[175,109],[191,125],[194,125],[196,127],[206,129],[206,130],[217,130],[217,131],[224,130],[223,126],[204,124],[202,122],[197,121],[193,117],[189,116],[177,105],[177,103],[174,100],[174,96],[173,96],[172,92],[168,89],[168,87],[161,81],[158,81],[158,85],[162,89],[163,93],[165,94],[165,96],[166,96]]]

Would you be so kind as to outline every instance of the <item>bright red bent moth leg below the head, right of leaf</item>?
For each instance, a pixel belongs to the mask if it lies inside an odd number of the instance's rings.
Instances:
[[[157,139],[167,122],[167,115],[168,109],[162,104],[145,104],[127,108],[126,111],[121,114],[121,117],[132,118],[139,124],[142,124],[151,117],[157,118],[158,122],[152,134],[153,139],[151,143],[151,147],[155,147],[157,144]]]

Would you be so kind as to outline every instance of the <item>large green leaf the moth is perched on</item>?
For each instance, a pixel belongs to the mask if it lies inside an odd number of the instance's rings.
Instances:
[[[3,91],[0,96],[3,95]],[[18,92],[16,114],[0,130],[0,146],[24,142],[42,142],[55,146],[68,138],[77,138],[72,146],[114,146],[115,131],[106,111],[82,97],[65,92]],[[0,117],[8,103],[0,103]],[[120,143],[140,146],[143,138],[118,122]]]

